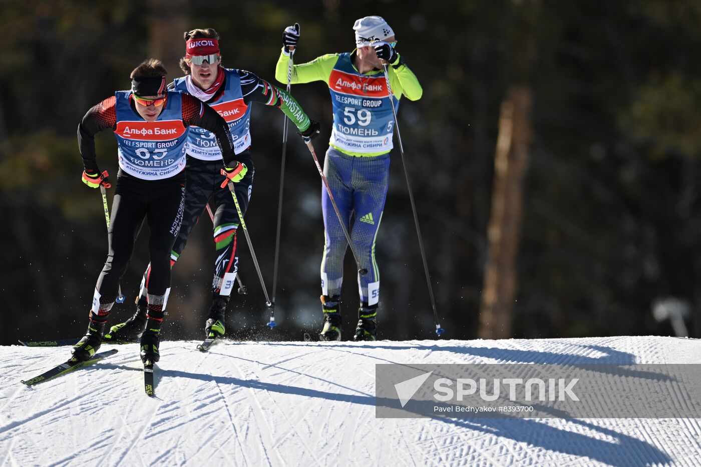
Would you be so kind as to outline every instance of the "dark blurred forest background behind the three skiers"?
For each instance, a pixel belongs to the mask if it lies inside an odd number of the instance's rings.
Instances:
[[[353,50],[353,22],[365,15],[388,20],[423,85],[421,100],[402,100],[399,123],[446,338],[701,337],[700,2],[204,5],[0,1],[0,344],[84,331],[107,254],[99,191],[80,181],[76,128],[89,107],[128,89],[146,57],[163,59],[170,79],[180,76],[188,29],[214,27],[224,66],[273,82],[287,25],[301,25],[294,58],[306,62]],[[321,158],[332,123],[327,87],[293,86],[292,94],[322,123]],[[282,128],[280,111],[254,106],[247,225],[280,326],[265,326],[242,235],[249,292],[235,293],[227,318],[240,339],[301,339],[320,328],[321,181],[294,133],[271,290]],[[96,138],[97,160],[116,175],[109,133]],[[206,215],[200,224],[174,269],[166,339],[203,334],[214,249]],[[135,307],[147,234],[144,226],[121,283],[127,302],[115,305],[111,324]],[[434,338],[396,142],[376,257],[381,338]],[[350,252],[346,262],[348,339],[358,295]],[[669,316],[685,313],[673,327]]]

